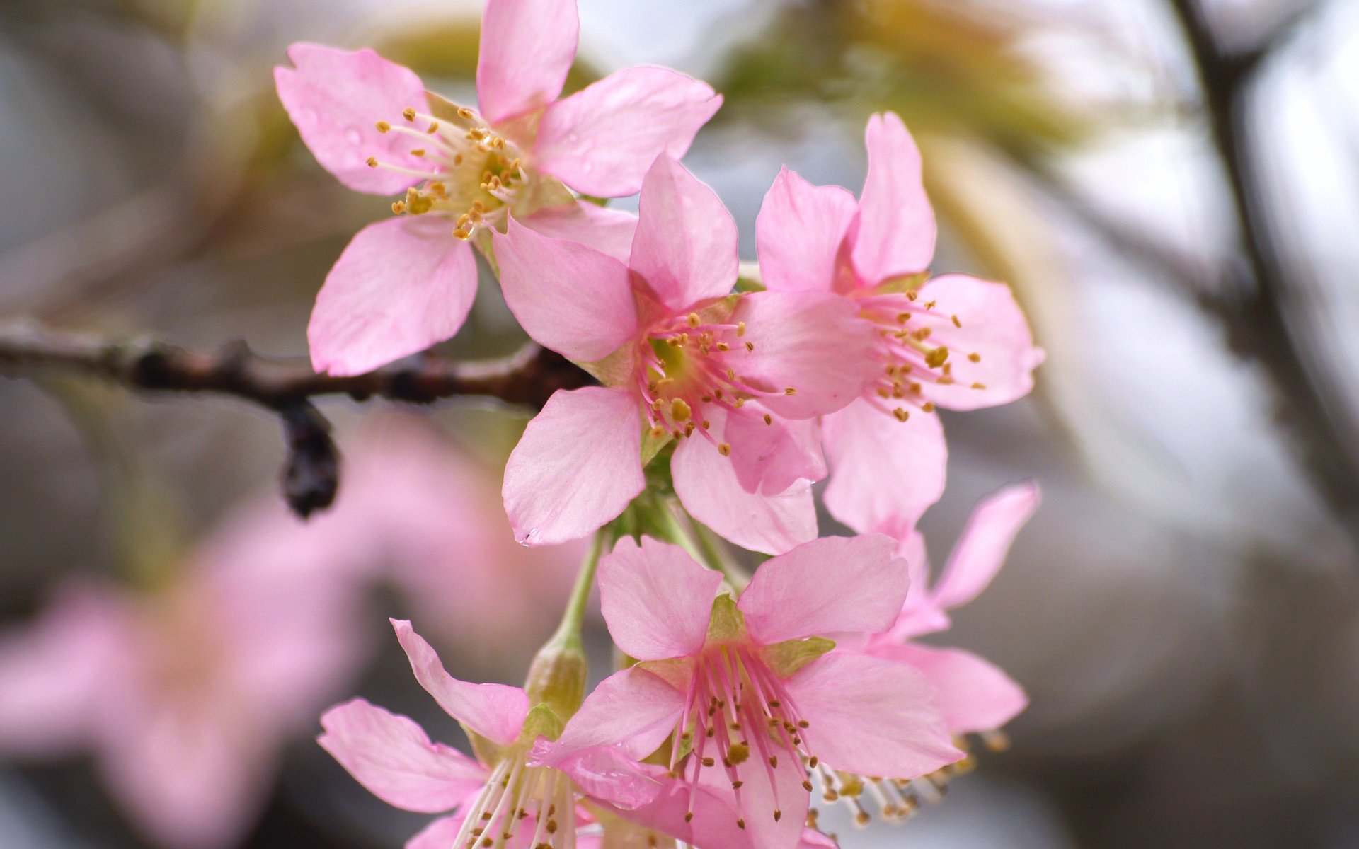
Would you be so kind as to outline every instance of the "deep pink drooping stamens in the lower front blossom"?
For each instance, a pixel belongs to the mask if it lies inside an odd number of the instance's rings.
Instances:
[[[697,789],[704,769],[722,769],[735,793],[737,810],[743,811],[741,788],[758,776],[773,792],[773,819],[783,816],[779,762],[818,765],[807,751],[802,732],[810,727],[788,697],[783,682],[749,648],[738,644],[709,645],[694,662],[694,672],[685,697],[685,710],[675,728],[675,746],[670,755],[671,774],[681,754],[689,750],[692,763],[685,766],[690,785]],[[719,766],[720,765],[720,766]],[[811,782],[803,781],[811,791]],[[686,822],[693,818],[689,795]],[[737,825],[746,827],[742,815]]]

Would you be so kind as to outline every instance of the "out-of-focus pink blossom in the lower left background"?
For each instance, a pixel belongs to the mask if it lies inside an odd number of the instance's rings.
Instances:
[[[345,539],[303,532],[281,505],[272,516],[228,523],[149,592],[71,583],[0,636],[0,754],[92,751],[156,844],[234,845],[279,750],[366,649],[355,587],[330,572],[344,571]]]

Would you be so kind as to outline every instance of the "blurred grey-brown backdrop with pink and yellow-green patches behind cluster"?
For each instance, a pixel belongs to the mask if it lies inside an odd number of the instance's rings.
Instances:
[[[1008,281],[1048,350],[1030,398],[945,413],[950,486],[923,523],[942,562],[977,499],[1042,485],[946,636],[1033,704],[943,804],[844,845],[1359,846],[1359,4],[580,12],[572,86],[656,62],[726,95],[686,163],[749,259],[780,164],[858,190],[867,115],[898,111],[934,270]],[[311,160],[272,67],[292,41],[372,45],[469,101],[478,16],[0,0],[0,318],[303,356],[330,262],[387,201]],[[523,341],[481,295],[454,356]],[[457,675],[522,681],[579,557],[519,549],[500,512],[527,413],[329,401],[345,477],[303,524],[276,417],[8,375],[0,846],[400,846],[425,818],[370,797],[315,717],[361,693],[458,742],[386,615]]]

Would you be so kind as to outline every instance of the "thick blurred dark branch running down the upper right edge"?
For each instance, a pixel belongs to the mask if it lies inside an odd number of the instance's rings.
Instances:
[[[1318,492],[1359,539],[1359,433],[1355,410],[1328,367],[1313,350],[1316,330],[1298,307],[1307,292],[1284,261],[1269,221],[1269,198],[1258,151],[1252,144],[1252,80],[1277,45],[1303,18],[1299,12],[1277,33],[1245,52],[1224,49],[1199,0],[1171,0],[1203,84],[1207,118],[1222,158],[1241,232],[1243,268],[1227,269],[1226,293],[1215,299],[1233,348],[1257,360],[1284,402],[1284,424],[1296,437]]]

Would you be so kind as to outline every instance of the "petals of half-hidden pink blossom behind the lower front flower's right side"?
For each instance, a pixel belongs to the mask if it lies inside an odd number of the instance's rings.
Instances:
[[[871,637],[864,651],[911,664],[928,678],[953,734],[996,729],[1023,710],[1029,698],[988,660],[958,648],[924,645],[915,637],[947,629],[947,610],[966,604],[987,588],[1015,534],[1038,508],[1038,499],[1034,484],[1021,484],[984,500],[932,585],[920,534],[913,532],[898,552],[912,565],[911,591],[892,629]]]

